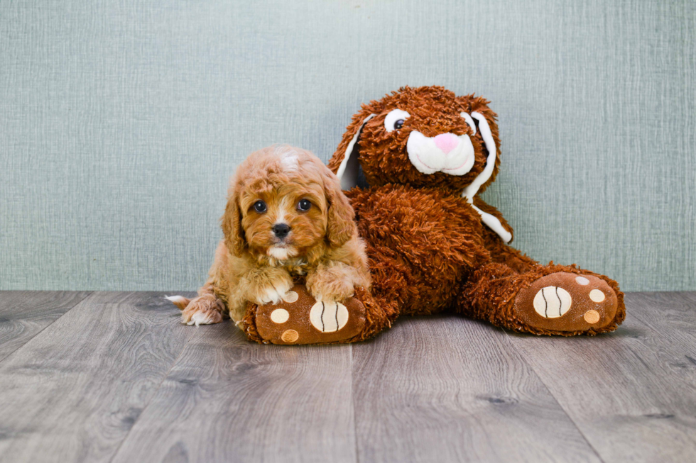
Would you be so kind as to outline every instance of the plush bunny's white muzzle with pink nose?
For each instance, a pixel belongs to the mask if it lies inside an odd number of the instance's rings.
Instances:
[[[408,160],[422,174],[444,172],[464,175],[474,166],[474,145],[469,135],[442,133],[426,137],[418,130],[408,135]]]

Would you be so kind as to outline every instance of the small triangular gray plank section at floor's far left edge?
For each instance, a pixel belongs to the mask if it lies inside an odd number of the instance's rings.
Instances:
[[[89,294],[89,291],[0,291],[0,362]]]

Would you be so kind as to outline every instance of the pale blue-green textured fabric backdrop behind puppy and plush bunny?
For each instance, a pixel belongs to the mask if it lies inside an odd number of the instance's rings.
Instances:
[[[249,152],[441,84],[499,114],[513,245],[695,290],[695,43],[694,1],[4,1],[0,289],[196,289]]]

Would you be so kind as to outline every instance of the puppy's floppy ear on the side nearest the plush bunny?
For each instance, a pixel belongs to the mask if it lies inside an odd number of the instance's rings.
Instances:
[[[354,221],[355,212],[341,191],[337,177],[328,169],[324,175],[324,194],[328,208],[326,235],[332,246],[341,246],[357,235],[358,229]]]

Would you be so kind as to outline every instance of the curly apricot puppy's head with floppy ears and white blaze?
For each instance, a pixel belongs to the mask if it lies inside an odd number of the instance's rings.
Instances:
[[[276,145],[251,153],[232,178],[222,230],[241,257],[315,260],[357,234],[338,179],[312,153]]]

